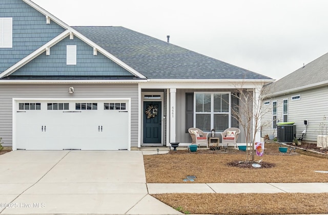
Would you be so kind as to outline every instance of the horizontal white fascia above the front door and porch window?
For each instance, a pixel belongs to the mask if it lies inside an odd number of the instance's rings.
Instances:
[[[271,83],[273,80],[149,80],[147,83],[141,83],[142,89],[234,89],[258,88],[264,84]]]

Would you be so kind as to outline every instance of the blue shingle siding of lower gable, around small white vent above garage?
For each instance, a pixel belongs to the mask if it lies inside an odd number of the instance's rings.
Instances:
[[[67,45],[76,45],[76,65],[66,65]],[[28,77],[37,79],[36,76],[46,79],[54,79],[54,77],[66,79],[68,76],[72,79],[78,79],[78,76],[86,77],[86,79],[96,79],[97,76],[102,77],[101,79],[103,77],[126,79],[126,77],[133,77],[133,74],[100,52],[93,55],[93,48],[78,37],[75,36],[74,40],[70,40],[67,36],[50,48],[50,55],[46,55],[46,52],[40,54],[10,76],[11,79],[23,78],[23,76],[24,79]]]

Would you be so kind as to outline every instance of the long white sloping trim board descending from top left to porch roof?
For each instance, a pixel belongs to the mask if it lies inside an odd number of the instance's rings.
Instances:
[[[126,70],[128,70],[129,72],[131,72],[135,76],[139,77],[140,79],[147,79],[146,76],[144,76],[141,73],[137,72],[135,69],[133,69],[132,67],[130,67],[126,63],[122,62],[117,57],[115,57],[114,55],[112,55],[111,53],[109,53],[108,51],[106,51],[105,49],[101,48],[100,46],[98,46],[97,44],[95,44],[94,42],[92,42],[91,40],[89,40],[86,36],[84,36],[83,34],[79,33],[74,28],[72,28],[71,26],[67,25],[66,23],[64,23],[59,18],[57,18],[56,16],[52,15],[51,13],[49,13],[48,11],[46,11],[45,9],[43,9],[42,7],[38,6],[34,2],[31,2],[30,0],[23,0],[23,1],[25,3],[27,3],[28,5],[30,5],[31,7],[33,7],[34,9],[36,9],[37,11],[39,11],[40,13],[43,13],[44,15],[49,16],[52,21],[54,21],[55,23],[57,23],[61,27],[66,28],[69,31],[73,32],[73,34],[75,34],[76,36],[78,36],[81,40],[83,40],[84,42],[86,42],[90,46],[96,48],[98,51],[100,51],[102,54],[104,54],[105,56],[107,56],[108,58],[110,58],[110,60],[114,61],[119,66],[125,68]]]

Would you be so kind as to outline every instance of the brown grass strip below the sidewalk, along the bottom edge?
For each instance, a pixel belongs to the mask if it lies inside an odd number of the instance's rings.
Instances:
[[[152,194],[152,196],[184,213],[328,213],[328,193],[168,193]]]

